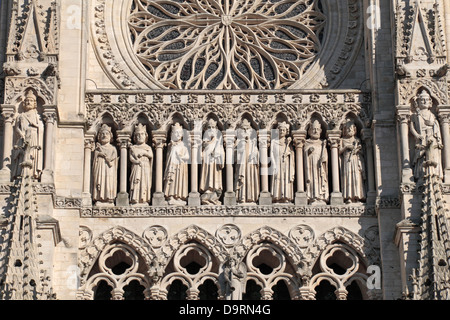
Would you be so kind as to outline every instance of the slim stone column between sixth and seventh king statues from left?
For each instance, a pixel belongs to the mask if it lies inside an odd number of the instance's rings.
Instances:
[[[297,130],[292,132],[295,144],[295,157],[296,157],[296,179],[297,179],[297,192],[295,193],[295,204],[299,206],[305,206],[308,204],[308,199],[305,192],[305,175],[304,175],[304,162],[303,162],[303,147],[306,141],[306,131]]]

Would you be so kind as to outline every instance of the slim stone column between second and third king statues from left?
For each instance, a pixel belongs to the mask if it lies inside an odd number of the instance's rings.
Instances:
[[[153,131],[153,147],[156,149],[156,167],[155,167],[155,193],[152,203],[155,206],[166,205],[163,192],[163,151],[166,146],[167,133],[165,131]]]

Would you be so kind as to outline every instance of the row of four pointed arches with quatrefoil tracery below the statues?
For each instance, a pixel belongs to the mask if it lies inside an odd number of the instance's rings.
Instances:
[[[83,232],[90,233],[86,227]],[[376,239],[370,241],[342,227],[328,230],[304,248],[293,240],[266,226],[227,249],[220,237],[191,225],[168,238],[161,247],[152,247],[144,238],[123,227],[114,227],[80,249],[78,298],[94,298],[104,281],[113,299],[124,299],[126,286],[137,281],[143,298],[165,300],[170,298],[170,287],[178,280],[185,286],[186,298],[197,300],[202,294],[201,286],[210,280],[217,290],[216,298],[222,300],[242,299],[250,281],[260,287],[261,299],[273,299],[276,285],[284,281],[292,299],[306,300],[314,299],[315,287],[326,280],[336,287],[338,299],[346,299],[346,287],[353,281],[362,282],[364,287],[367,275],[363,272],[376,261],[372,255],[377,251],[372,246]],[[330,261],[345,272],[337,274]],[[114,267],[121,263],[127,267],[118,273]],[[314,267],[316,264],[318,267]],[[192,269],[193,265],[197,269]]]

